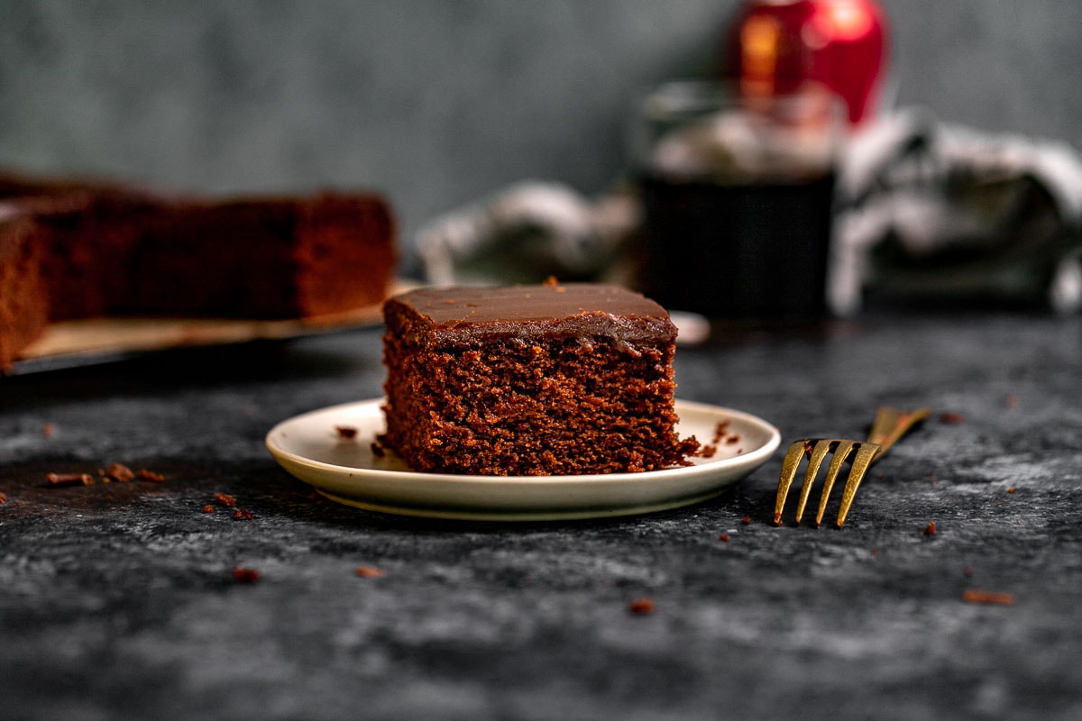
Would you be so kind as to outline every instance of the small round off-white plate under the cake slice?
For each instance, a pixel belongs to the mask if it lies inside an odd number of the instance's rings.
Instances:
[[[676,402],[681,437],[710,443],[720,423],[728,437],[709,458],[643,473],[590,476],[452,476],[419,473],[372,443],[384,430],[379,400],[346,403],[283,420],[267,433],[287,471],[331,500],[368,510],[430,518],[541,521],[630,516],[699,503],[762,466],[778,448],[778,429],[753,415]],[[343,438],[338,427],[357,430]]]

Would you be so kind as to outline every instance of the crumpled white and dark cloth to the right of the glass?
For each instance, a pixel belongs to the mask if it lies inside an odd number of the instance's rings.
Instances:
[[[842,161],[831,303],[862,292],[1082,306],[1082,159],[1064,143],[889,116]]]

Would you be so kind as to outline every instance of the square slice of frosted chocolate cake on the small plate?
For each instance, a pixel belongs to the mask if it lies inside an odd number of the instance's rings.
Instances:
[[[383,442],[414,470],[612,473],[687,463],[676,328],[613,285],[423,289],[384,304]]]

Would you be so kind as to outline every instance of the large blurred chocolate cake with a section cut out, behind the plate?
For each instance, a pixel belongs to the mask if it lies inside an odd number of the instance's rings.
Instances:
[[[377,192],[203,198],[0,172],[0,368],[49,321],[378,305],[397,262]]]

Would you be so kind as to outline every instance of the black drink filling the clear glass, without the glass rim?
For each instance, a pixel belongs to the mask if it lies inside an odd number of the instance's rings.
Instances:
[[[722,183],[641,177],[644,292],[713,319],[827,315],[834,175]]]

